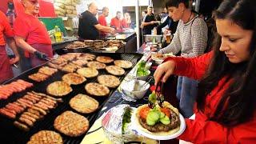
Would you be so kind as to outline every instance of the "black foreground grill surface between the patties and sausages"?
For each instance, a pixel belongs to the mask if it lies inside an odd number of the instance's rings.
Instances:
[[[117,59],[122,59],[122,60],[126,60],[126,61],[130,61],[133,63],[133,67],[135,66],[135,64],[138,62],[138,60],[140,58],[142,58],[142,54],[103,54],[103,53],[96,53],[96,56],[98,55],[104,55],[104,56],[110,56],[111,58],[114,58],[114,60]],[[46,64],[42,65],[45,66]],[[111,64],[107,64],[108,65],[113,65],[113,63]],[[16,81],[17,79],[23,79],[26,82],[32,82],[34,83],[34,86],[31,87],[30,89],[27,89],[25,91],[22,91],[21,93],[17,93],[17,94],[13,94],[10,98],[6,99],[6,100],[1,100],[0,101],[0,108],[2,108],[3,106],[6,106],[6,104],[8,104],[9,102],[14,102],[16,101],[18,98],[22,98],[22,96],[24,96],[26,94],[26,92],[29,91],[36,91],[39,93],[44,93],[46,94],[46,86],[48,86],[51,82],[55,82],[58,80],[62,79],[62,75],[66,74],[65,72],[62,72],[60,70],[58,70],[58,73],[52,75],[50,78],[48,78],[46,81],[44,82],[34,82],[32,80],[30,80],[28,78],[28,75],[30,74],[34,74],[36,72],[38,72],[38,69],[42,66],[38,66],[35,67],[32,70],[28,70],[25,73],[19,75],[17,78],[13,78],[10,81],[6,82],[13,82]],[[121,81],[123,78],[125,78],[126,74],[128,74],[130,72],[131,69],[126,70],[126,73],[121,76],[118,77]],[[100,74],[108,74],[106,72],[106,70],[98,70],[99,71],[99,75]],[[73,91],[64,96],[63,102],[62,103],[58,103],[58,106],[54,109],[54,110],[50,110],[50,113],[46,114],[46,116],[42,119],[42,120],[38,120],[37,122],[34,123],[34,126],[30,128],[30,131],[26,132],[26,131],[22,131],[19,130],[17,127],[14,126],[13,122],[14,120],[11,120],[9,118],[6,118],[2,115],[0,115],[0,138],[1,138],[1,142],[3,143],[26,143],[30,140],[30,137],[37,133],[39,130],[54,130],[54,119],[59,115],[62,114],[62,112],[66,111],[66,110],[72,110],[76,113],[78,113],[77,111],[73,110],[70,108],[69,106],[69,102],[70,99],[73,98],[75,95],[77,94],[87,94],[86,90],[85,90],[85,85],[88,82],[97,82],[97,78],[92,78],[92,79],[88,79],[87,81],[78,85],[78,86],[71,86]],[[114,90],[116,89],[110,89],[110,94],[109,96],[114,92]],[[90,95],[90,94],[87,94]],[[85,116],[89,122],[90,122],[90,126],[93,125],[94,121],[96,120],[96,118],[98,117],[98,113],[99,111],[102,109],[102,106],[106,103],[106,101],[110,98],[110,97],[94,97],[91,96],[92,98],[95,98],[98,102],[99,102],[99,108],[97,111],[95,111],[92,114],[81,114],[83,116]],[[17,118],[19,118],[20,115],[17,116]],[[58,132],[58,131],[57,131]],[[59,133],[59,132],[58,132]],[[59,133],[61,134],[61,133]],[[68,137],[64,134],[62,135],[62,139],[65,143],[80,143],[82,142],[82,138],[84,138],[84,136],[86,134],[82,134],[82,136],[79,137]]]

